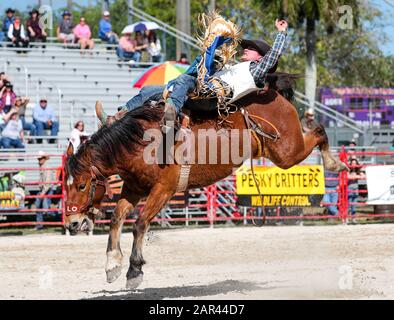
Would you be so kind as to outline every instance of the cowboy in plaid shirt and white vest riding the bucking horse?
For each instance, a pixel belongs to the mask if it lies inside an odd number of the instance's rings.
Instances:
[[[288,24],[284,20],[276,20],[275,26],[278,30],[278,34],[272,47],[260,40],[242,40],[240,43],[241,47],[244,49],[241,57],[242,62],[236,64],[234,70],[231,69],[225,74],[220,74],[221,71],[215,73],[215,70],[211,70],[212,76],[223,76],[225,78],[223,79],[224,82],[232,87],[232,101],[246,95],[250,90],[263,88],[267,73],[275,72],[279,57],[285,47]],[[174,123],[177,114],[188,98],[188,93],[193,91],[197,85],[197,66],[200,61],[201,56],[195,59],[185,74],[180,75],[171,83],[171,96],[167,99],[165,108],[165,120],[169,124]],[[239,86],[239,79],[243,79],[243,81],[241,81],[241,86]],[[97,114],[100,121],[103,124],[111,123],[122,117],[126,111],[138,108],[148,101],[160,100],[165,88],[166,86],[146,86],[142,88],[125,106],[119,108],[120,111],[115,117],[107,117],[107,114],[102,109],[98,109]]]

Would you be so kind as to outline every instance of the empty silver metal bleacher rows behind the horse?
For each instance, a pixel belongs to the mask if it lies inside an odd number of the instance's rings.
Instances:
[[[95,101],[101,100],[109,113],[115,113],[117,107],[138,92],[132,88],[132,82],[146,71],[146,65],[130,67],[127,62],[119,62],[115,51],[108,50],[103,44],[96,45],[92,54],[85,55],[81,55],[79,49],[51,43],[47,43],[45,49],[31,48],[27,54],[17,54],[15,49],[7,47],[0,48],[0,51],[0,69],[9,75],[14,91],[22,96],[27,93],[30,97],[27,121],[32,121],[32,109],[40,96],[48,98],[48,104],[59,116],[58,143],[48,144],[44,139],[42,144],[26,144],[26,153],[39,150],[63,153],[71,129],[78,120],[85,122],[87,132],[94,132],[98,125]],[[22,161],[13,159],[2,161],[2,164],[37,167],[35,158]],[[53,158],[48,163],[49,166],[59,164],[60,158]],[[34,179],[38,173],[26,174]]]

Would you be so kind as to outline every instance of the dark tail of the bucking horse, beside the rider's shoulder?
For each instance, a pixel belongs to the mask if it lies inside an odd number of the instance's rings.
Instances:
[[[267,74],[266,81],[270,89],[278,91],[286,100],[293,103],[296,80],[303,77],[303,74],[274,72]]]

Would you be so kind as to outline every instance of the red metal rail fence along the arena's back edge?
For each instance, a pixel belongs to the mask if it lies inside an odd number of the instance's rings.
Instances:
[[[2,155],[3,156],[3,155]],[[61,173],[58,174],[58,179],[49,182],[53,186],[61,186],[61,194],[58,195],[27,195],[25,197],[25,202],[29,200],[34,200],[37,198],[50,198],[50,199],[60,199],[57,206],[52,206],[50,209],[36,209],[36,208],[24,208],[14,212],[12,210],[6,211],[1,210],[0,216],[26,216],[35,215],[37,212],[54,212],[58,213],[56,221],[13,221],[13,222],[3,222],[0,221],[0,227],[18,227],[18,226],[34,226],[37,224],[49,225],[49,226],[62,226],[64,224],[64,189],[62,184],[62,179],[64,177],[64,157],[60,155],[51,155],[52,157],[59,158],[59,166],[48,167],[45,170],[50,170],[53,172]],[[339,153],[340,159],[349,165],[349,157],[359,157],[360,159],[365,157],[373,156],[376,159],[379,157],[390,158],[394,156],[394,152],[349,152],[345,148]],[[6,155],[5,157],[12,158],[13,155]],[[36,155],[23,155],[24,159],[29,157],[36,157]],[[375,161],[377,162],[377,161]],[[6,163],[3,163],[6,164]],[[377,165],[377,163],[363,164],[362,160],[360,162],[360,168],[365,168],[366,166]],[[9,171],[39,171],[37,167],[5,167],[0,168],[0,172]],[[42,169],[41,169],[42,170]],[[329,178],[333,179],[333,178]],[[335,179],[335,178],[334,178]],[[327,179],[328,180],[328,179]],[[389,213],[375,213],[374,207],[368,205],[364,200],[349,202],[349,195],[356,193],[359,196],[365,195],[368,191],[366,189],[349,190],[349,176],[347,172],[342,172],[339,174],[338,188],[336,192],[338,193],[338,202],[335,203],[325,203],[322,202],[319,208],[312,208],[305,210],[305,208],[293,208],[292,210],[286,210],[286,208],[266,208],[267,220],[268,221],[304,221],[304,220],[317,220],[317,219],[339,219],[343,223],[347,223],[350,218],[382,218],[382,217],[394,217],[394,212]],[[28,187],[38,187],[42,183],[38,180],[29,180],[25,182],[25,186]],[[119,190],[121,184],[117,184]],[[236,222],[240,223],[250,223],[251,219],[258,221],[262,219],[261,214],[257,214],[258,209],[256,208],[245,208],[236,205],[236,192],[235,192],[235,177],[231,176],[217,184],[211,185],[203,189],[197,189],[189,191],[187,194],[177,194],[179,199],[173,199],[170,201],[169,206],[166,207],[153,222],[159,223],[161,225],[170,224],[206,224],[213,226],[215,223],[225,223],[225,222]],[[335,191],[330,191],[335,192]],[[361,197],[358,197],[361,198]],[[113,210],[116,202],[107,202],[106,209],[108,211],[107,218],[97,221],[97,224],[108,224],[110,223],[109,214]],[[338,208],[338,215],[333,216],[323,212],[324,207],[330,205],[336,205]],[[349,214],[349,207],[355,205],[357,208],[357,214],[351,216]],[[369,210],[361,210],[369,208]],[[143,210],[143,203],[139,205],[136,209],[137,211]],[[137,213],[138,214],[138,213]],[[132,223],[135,221],[135,214],[132,215],[130,219],[126,220],[126,223]],[[21,219],[21,218],[20,218]],[[23,220],[23,219],[22,219]],[[31,220],[31,219],[30,219]],[[33,219],[34,220],[34,219]]]

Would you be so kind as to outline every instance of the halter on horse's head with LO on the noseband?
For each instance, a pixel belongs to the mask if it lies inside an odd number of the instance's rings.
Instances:
[[[79,213],[88,213],[88,214],[90,213],[93,214],[93,216],[101,216],[102,215],[101,211],[93,206],[93,200],[96,194],[97,186],[104,187],[105,193],[108,194],[108,197],[110,199],[112,199],[113,193],[111,187],[109,186],[108,179],[95,166],[90,167],[90,174],[91,174],[91,178],[90,178],[90,189],[89,189],[88,199],[82,205],[73,203],[71,201],[66,201],[65,202],[66,216],[71,216]]]

